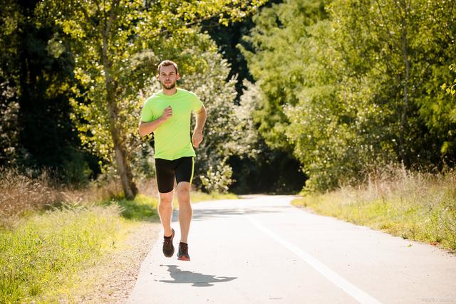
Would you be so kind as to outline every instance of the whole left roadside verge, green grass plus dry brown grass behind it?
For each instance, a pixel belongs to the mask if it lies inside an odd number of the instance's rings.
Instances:
[[[71,300],[90,288],[79,278],[84,271],[123,250],[129,234],[158,223],[152,180],[138,183],[143,194],[128,200],[115,180],[56,189],[49,175],[1,172],[0,303]],[[236,196],[192,194],[192,201],[222,198]]]

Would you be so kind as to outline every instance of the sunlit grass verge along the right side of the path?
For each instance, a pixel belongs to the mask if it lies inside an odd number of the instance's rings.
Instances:
[[[403,239],[456,250],[455,171],[421,174],[396,168],[374,175],[361,187],[306,194],[292,204]]]

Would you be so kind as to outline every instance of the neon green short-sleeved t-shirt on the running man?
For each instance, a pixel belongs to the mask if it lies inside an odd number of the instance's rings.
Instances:
[[[155,93],[142,106],[141,120],[156,120],[169,105],[172,116],[154,131],[155,158],[173,160],[196,156],[190,140],[190,120],[192,111],[200,110],[202,102],[195,93],[180,88],[174,95],[165,95],[163,91]]]

